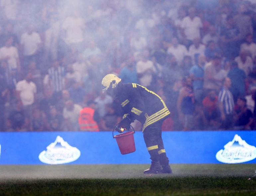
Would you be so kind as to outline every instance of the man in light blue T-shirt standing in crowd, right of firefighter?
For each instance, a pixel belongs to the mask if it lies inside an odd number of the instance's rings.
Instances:
[[[205,56],[200,55],[198,57],[198,63],[193,65],[190,69],[190,77],[193,81],[195,100],[198,101],[198,103],[201,103],[203,99],[203,75],[205,62]]]

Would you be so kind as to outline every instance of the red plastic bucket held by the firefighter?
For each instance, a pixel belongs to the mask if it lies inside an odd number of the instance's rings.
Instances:
[[[134,131],[128,131],[114,136],[122,155],[133,153],[136,150],[133,136],[134,133]]]

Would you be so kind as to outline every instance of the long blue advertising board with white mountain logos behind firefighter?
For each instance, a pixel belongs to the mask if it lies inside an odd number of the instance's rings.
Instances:
[[[170,163],[256,163],[256,131],[166,131]],[[150,163],[143,134],[121,155],[111,132],[1,132],[0,164]]]

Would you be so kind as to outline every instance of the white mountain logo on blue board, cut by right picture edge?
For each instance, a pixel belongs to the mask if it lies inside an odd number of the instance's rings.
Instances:
[[[244,163],[256,158],[256,148],[247,144],[239,135],[216,154],[216,159],[222,163]]]

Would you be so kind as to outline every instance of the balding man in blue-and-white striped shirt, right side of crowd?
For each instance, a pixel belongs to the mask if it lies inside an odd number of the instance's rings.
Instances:
[[[229,91],[230,87],[231,80],[226,77],[218,96],[218,107],[222,121],[220,128],[222,129],[232,129],[233,127],[234,99],[232,93]]]

